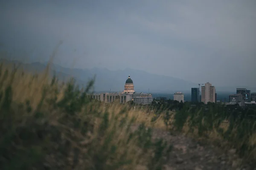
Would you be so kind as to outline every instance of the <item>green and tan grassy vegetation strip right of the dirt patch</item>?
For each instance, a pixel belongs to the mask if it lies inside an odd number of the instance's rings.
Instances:
[[[160,114],[163,114],[169,130],[186,133],[198,141],[215,144],[226,151],[236,149],[236,154],[255,166],[256,120],[250,116],[237,117],[235,110],[231,110],[231,113],[227,110],[223,105],[191,108],[189,103],[185,103],[175,113]],[[251,114],[251,109],[248,111]]]

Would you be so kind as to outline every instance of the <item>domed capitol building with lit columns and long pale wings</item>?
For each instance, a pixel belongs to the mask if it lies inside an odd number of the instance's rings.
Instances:
[[[87,94],[87,97],[107,103],[111,103],[116,100],[119,100],[120,103],[134,101],[134,103],[138,105],[148,105],[153,101],[152,94],[134,91],[134,84],[130,75],[125,82],[125,90],[123,92]]]

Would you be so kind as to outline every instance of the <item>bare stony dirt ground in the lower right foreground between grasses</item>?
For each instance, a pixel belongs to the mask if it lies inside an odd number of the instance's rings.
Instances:
[[[134,126],[135,130],[137,127]],[[165,170],[256,170],[255,167],[241,164],[236,150],[228,152],[213,146],[204,145],[182,135],[170,134],[166,130],[153,129],[153,140],[165,139],[173,145]]]

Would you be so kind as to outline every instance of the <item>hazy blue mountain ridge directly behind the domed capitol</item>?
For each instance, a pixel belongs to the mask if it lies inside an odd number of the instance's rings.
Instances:
[[[74,77],[84,82],[96,75],[95,91],[110,91],[110,89],[111,91],[123,91],[128,75],[134,82],[135,91],[148,92],[149,89],[149,92],[170,92],[175,89],[182,91],[191,88],[191,82],[182,79],[159,76],[130,68],[110,71],[106,68],[69,69],[54,65],[54,69],[65,74],[72,73]]]

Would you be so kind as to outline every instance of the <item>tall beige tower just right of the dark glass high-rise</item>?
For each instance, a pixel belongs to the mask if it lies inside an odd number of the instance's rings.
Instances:
[[[201,101],[204,102],[204,104],[207,104],[208,102],[215,102],[215,87],[212,86],[211,83],[207,82],[202,86],[201,90],[202,99]]]

